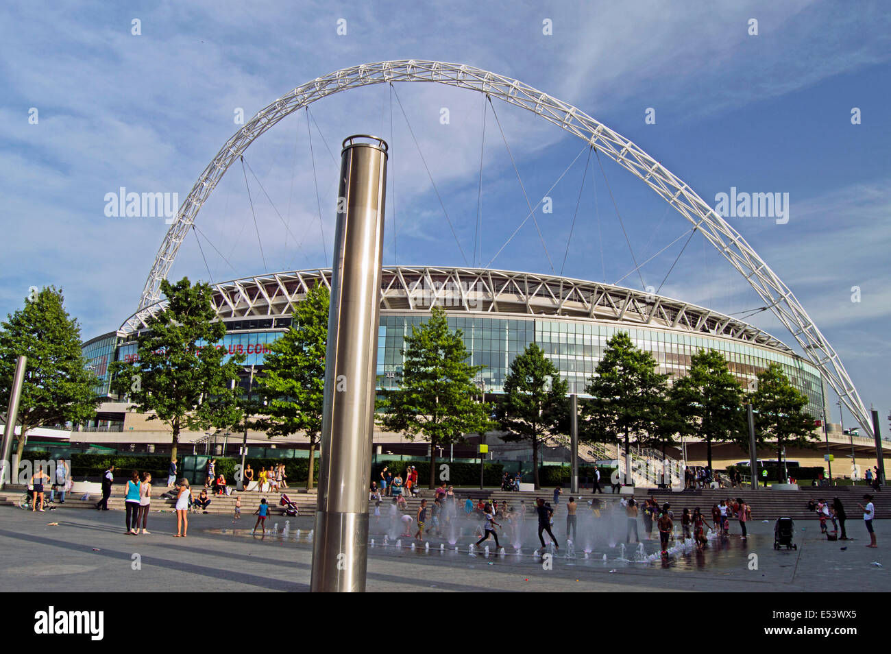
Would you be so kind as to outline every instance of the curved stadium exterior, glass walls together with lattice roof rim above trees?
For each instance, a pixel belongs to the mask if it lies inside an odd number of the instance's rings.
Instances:
[[[213,286],[230,354],[262,370],[269,345],[290,326],[294,307],[316,283],[330,287],[331,269],[246,277]],[[97,394],[110,396],[108,364],[135,356],[135,332],[161,301],[130,316],[119,331],[87,341],[84,355],[102,380]],[[544,348],[569,392],[584,396],[586,380],[607,340],[626,331],[634,345],[652,353],[659,372],[682,376],[699,349],[715,349],[743,388],[777,363],[807,398],[807,411],[822,415],[826,392],[820,372],[780,340],[748,323],[680,300],[598,282],[482,268],[385,266],[380,290],[378,385],[393,388],[402,368],[400,350],[412,325],[433,305],[446,308],[449,326],[463,333],[471,363],[486,367],[486,393],[500,393],[511,361],[528,344]],[[247,373],[242,384],[247,387]],[[828,412],[827,412],[828,413]]]

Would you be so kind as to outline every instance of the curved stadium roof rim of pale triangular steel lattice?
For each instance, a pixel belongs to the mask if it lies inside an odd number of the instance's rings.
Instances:
[[[213,284],[213,301],[221,319],[289,316],[316,283],[331,287],[331,268],[244,277]],[[490,268],[384,266],[380,308],[383,311],[429,309],[453,312],[551,315],[623,326],[653,327],[742,340],[787,352],[792,350],[748,323],[681,300],[600,282],[549,274]],[[143,329],[167,300],[127,318],[119,334]]]

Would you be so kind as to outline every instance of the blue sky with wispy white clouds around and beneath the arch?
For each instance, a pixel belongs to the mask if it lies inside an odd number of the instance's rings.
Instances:
[[[134,19],[140,36],[131,34]],[[339,19],[347,21],[346,35],[337,33]],[[543,34],[545,19],[552,21],[550,36]],[[758,21],[757,36],[748,34],[750,19]],[[867,408],[875,405],[884,418],[891,409],[881,363],[891,356],[889,35],[891,10],[880,2],[459,2],[411,11],[393,3],[5,3],[0,315],[20,307],[30,286],[54,284],[85,338],[117,328],[135,309],[168,225],[106,217],[105,193],[125,186],[184,198],[239,127],[236,109],[249,117],[331,71],[368,61],[456,61],[574,104],[712,204],[732,186],[788,192],[788,224],[728,222],[795,292]],[[385,263],[472,263],[483,98],[440,85],[400,84],[395,91],[464,254],[396,97],[391,130],[388,88],[372,86],[316,102],[309,134],[303,112],[245,153],[257,176],[247,173],[269,271],[330,260],[323,242],[330,246],[333,236],[339,142],[368,132],[387,138],[392,152]],[[447,125],[440,123],[444,107]],[[860,125],[851,123],[854,107]],[[37,124],[29,123],[31,108]],[[655,124],[645,123],[647,108],[656,110]],[[584,144],[503,102],[495,111],[535,204]],[[484,145],[477,254],[483,266],[527,215],[491,110]],[[609,159],[601,157],[601,170],[592,158],[584,174],[586,159],[585,152],[550,193],[553,213],[536,218],[555,272],[616,282],[634,268],[617,212],[638,261],[687,223]],[[300,239],[299,249],[278,215]],[[207,280],[208,267],[217,282],[264,272],[240,167],[224,177],[197,225],[208,266],[192,235],[172,277]],[[662,284],[684,241],[642,267],[644,283]],[[491,265],[552,270],[531,222]],[[621,283],[642,285],[636,273]],[[854,286],[860,302],[851,301]],[[762,304],[699,235],[661,292],[725,313]],[[792,341],[769,313],[749,320]]]

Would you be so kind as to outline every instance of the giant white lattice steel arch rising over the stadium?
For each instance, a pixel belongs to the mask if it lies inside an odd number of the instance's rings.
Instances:
[[[358,86],[392,82],[434,82],[484,93],[490,97],[537,114],[554,125],[589,143],[619,166],[627,168],[644,184],[657,192],[687,218],[756,290],[792,337],[803,348],[805,357],[826,376],[832,389],[854,415],[863,429],[872,431],[869,414],[857,394],[854,383],[841,364],[836,351],[807,315],[795,295],[764,263],[745,239],[724,221],[690,186],[674,176],[656,159],[624,136],[588,116],[584,111],[523,84],[517,79],[458,63],[444,61],[379,61],[337,70],[289,93],[257,112],[217,152],[186,196],[176,221],[170,226],[151,266],[135,315],[121,326],[121,331],[139,329],[149,307],[160,299],[160,281],[167,277],[176,252],[183,244],[201,206],[250,143],[278,121],[303,107],[332,94]],[[143,315],[143,313],[145,315]]]

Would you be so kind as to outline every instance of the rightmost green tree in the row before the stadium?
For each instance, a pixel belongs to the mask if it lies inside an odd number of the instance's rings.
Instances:
[[[792,386],[780,364],[770,364],[758,374],[758,388],[751,396],[758,442],[776,438],[777,461],[783,478],[789,477],[783,447],[810,447],[820,436],[814,433],[814,418],[805,412],[807,398]]]

